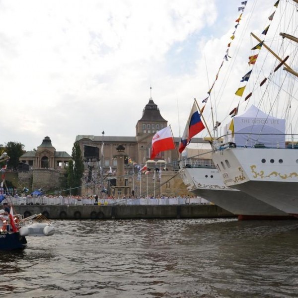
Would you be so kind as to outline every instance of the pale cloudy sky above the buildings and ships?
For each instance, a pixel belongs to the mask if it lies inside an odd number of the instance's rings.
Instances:
[[[244,29],[260,34],[274,2],[248,0],[229,50],[242,62],[224,62],[214,88],[224,103],[218,119],[236,105],[247,69],[252,42],[247,33],[240,45],[240,36]],[[49,136],[57,151],[71,154],[77,135],[135,136],[150,96],[180,137],[193,99],[202,102],[215,79],[240,6],[240,0],[0,0],[0,144],[32,150]]]

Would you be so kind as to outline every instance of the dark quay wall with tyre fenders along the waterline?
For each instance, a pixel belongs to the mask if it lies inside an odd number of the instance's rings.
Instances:
[[[228,218],[235,215],[216,205],[19,205],[15,214],[42,214],[48,219],[195,219]]]

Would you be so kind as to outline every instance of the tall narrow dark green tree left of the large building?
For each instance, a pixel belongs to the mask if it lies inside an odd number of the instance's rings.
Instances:
[[[67,171],[68,188],[72,188],[72,194],[80,194],[81,178],[84,174],[84,162],[82,159],[81,149],[77,142],[74,142],[72,151],[73,160],[69,161]]]

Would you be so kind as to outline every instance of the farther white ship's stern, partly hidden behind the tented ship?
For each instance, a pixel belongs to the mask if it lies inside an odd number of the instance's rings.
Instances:
[[[289,218],[287,213],[249,194],[224,185],[222,177],[211,159],[211,146],[209,144],[196,144],[196,146],[201,148],[208,146],[209,149],[190,149],[188,147],[183,152],[180,176],[188,191],[237,215],[239,220]],[[196,156],[196,158],[191,156]]]

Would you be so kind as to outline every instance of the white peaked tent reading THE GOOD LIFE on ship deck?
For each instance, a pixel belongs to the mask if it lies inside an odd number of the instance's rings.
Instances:
[[[233,139],[237,146],[285,148],[285,119],[267,115],[252,105],[244,114],[236,115],[233,121]]]

